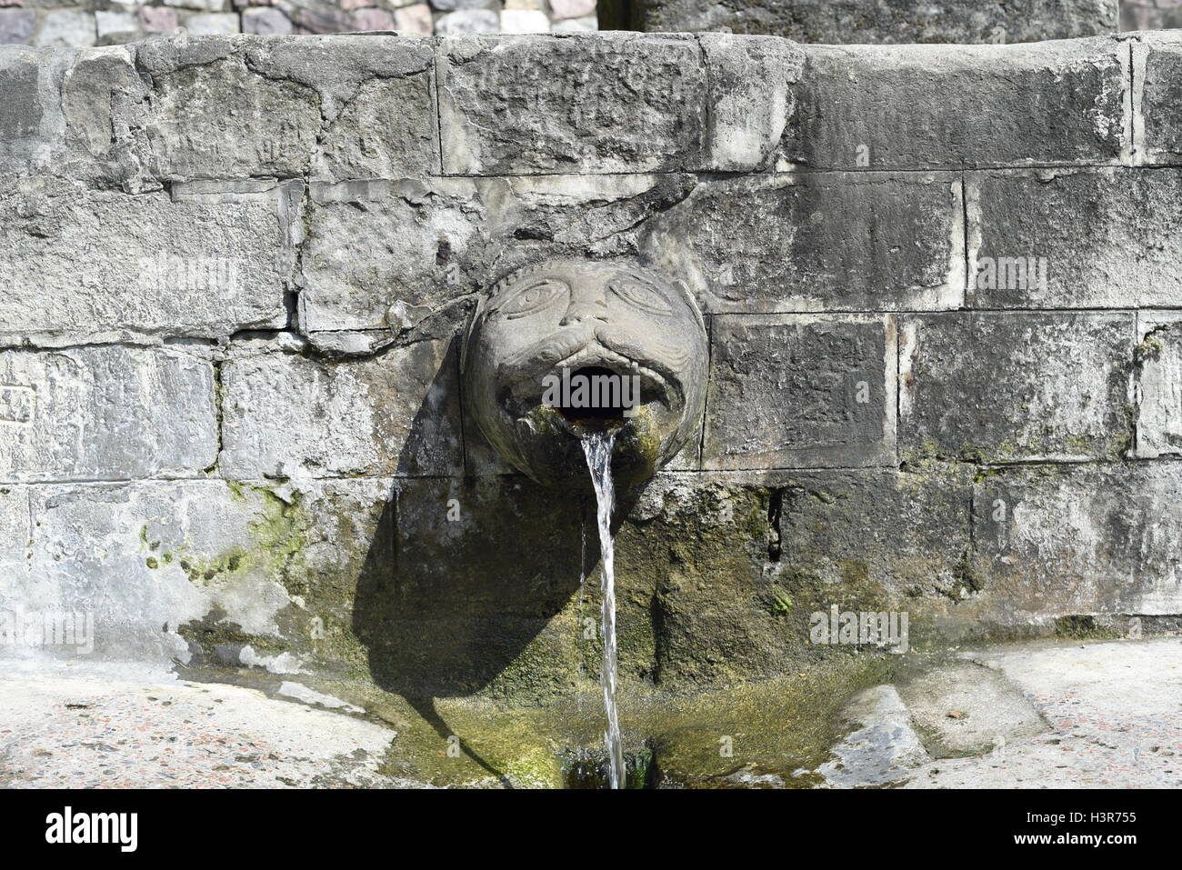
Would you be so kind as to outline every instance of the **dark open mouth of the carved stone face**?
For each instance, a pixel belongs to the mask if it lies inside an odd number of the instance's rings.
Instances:
[[[546,404],[567,427],[583,429],[623,426],[654,403],[676,411],[682,396],[671,376],[595,343],[556,365],[524,366],[506,379],[500,401],[514,418]]]

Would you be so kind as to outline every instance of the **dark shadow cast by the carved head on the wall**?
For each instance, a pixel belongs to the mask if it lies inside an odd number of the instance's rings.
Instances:
[[[452,377],[442,366],[429,394],[454,390]],[[429,402],[415,416],[400,474],[436,417]],[[556,683],[539,692],[572,684],[576,629],[552,621],[599,558],[593,534],[584,547],[586,511],[583,493],[519,475],[401,478],[357,579],[353,631],[375,683],[421,712],[491,686],[528,693],[539,674]]]

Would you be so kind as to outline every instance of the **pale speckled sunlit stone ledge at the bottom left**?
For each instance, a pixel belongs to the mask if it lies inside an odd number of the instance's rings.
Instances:
[[[312,699],[93,664],[9,669],[0,692],[5,788],[402,785],[376,770],[394,729]]]

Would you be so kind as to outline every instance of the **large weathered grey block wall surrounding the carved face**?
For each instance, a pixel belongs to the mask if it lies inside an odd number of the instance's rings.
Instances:
[[[589,500],[457,378],[480,291],[585,257],[712,342],[624,507],[625,681],[797,668],[831,605],[913,645],[1182,613],[1180,87],[1174,34],[0,50],[0,608],[109,658],[595,680]]]

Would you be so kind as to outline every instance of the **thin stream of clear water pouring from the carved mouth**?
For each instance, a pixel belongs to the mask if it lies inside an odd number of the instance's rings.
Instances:
[[[599,552],[603,556],[600,582],[603,585],[603,669],[599,683],[603,686],[603,706],[608,715],[604,747],[608,749],[609,780],[612,788],[624,786],[624,746],[619,738],[619,716],[616,713],[616,551],[611,539],[611,512],[616,491],[611,482],[611,449],[616,442],[613,431],[592,431],[583,436],[583,453],[591,470],[595,486],[596,517],[599,522]]]

